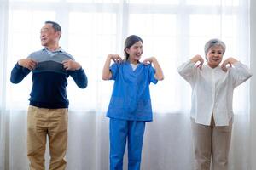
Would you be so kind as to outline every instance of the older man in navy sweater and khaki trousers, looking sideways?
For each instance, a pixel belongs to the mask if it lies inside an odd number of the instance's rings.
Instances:
[[[10,80],[19,83],[32,72],[32,91],[27,112],[27,156],[31,170],[44,170],[46,137],[49,138],[49,170],[66,168],[67,78],[79,88],[87,87],[82,66],[60,46],[61,26],[46,21],[40,32],[42,50],[20,59]]]

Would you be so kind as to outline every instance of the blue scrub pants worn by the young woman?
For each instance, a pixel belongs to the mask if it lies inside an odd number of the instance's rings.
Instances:
[[[143,149],[145,122],[110,118],[110,170],[123,169],[126,139],[128,139],[128,170],[139,170]]]

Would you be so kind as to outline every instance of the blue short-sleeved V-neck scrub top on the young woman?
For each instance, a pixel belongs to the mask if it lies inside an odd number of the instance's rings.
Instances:
[[[152,121],[152,106],[149,84],[154,78],[152,65],[139,63],[135,71],[130,62],[114,63],[110,67],[114,80],[113,93],[107,116],[131,121]]]

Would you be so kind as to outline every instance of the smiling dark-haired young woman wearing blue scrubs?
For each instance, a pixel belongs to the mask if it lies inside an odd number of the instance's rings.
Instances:
[[[102,71],[103,80],[113,80],[108,106],[110,170],[123,169],[126,141],[128,170],[139,170],[145,122],[152,121],[149,84],[163,80],[163,71],[154,57],[139,60],[143,54],[142,38],[131,35],[125,40],[125,59],[109,54]],[[113,60],[113,64],[111,64]],[[153,66],[152,66],[153,64]]]

